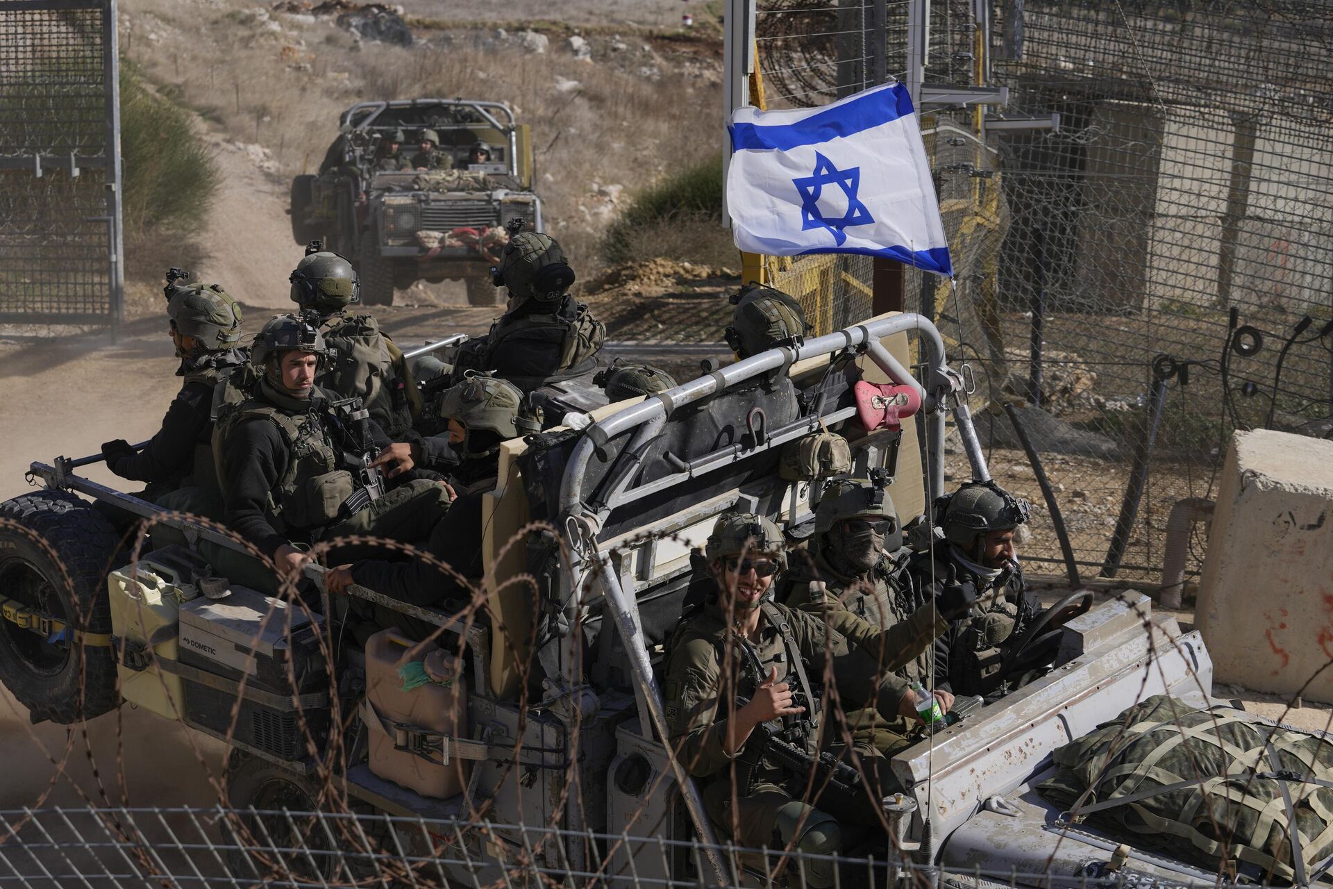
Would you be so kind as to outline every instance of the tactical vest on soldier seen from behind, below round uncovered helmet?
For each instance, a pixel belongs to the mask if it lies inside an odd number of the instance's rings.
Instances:
[[[340,399],[360,399],[391,439],[401,439],[420,415],[416,385],[403,359],[375,317],[333,315],[320,327],[329,349],[317,383]]]

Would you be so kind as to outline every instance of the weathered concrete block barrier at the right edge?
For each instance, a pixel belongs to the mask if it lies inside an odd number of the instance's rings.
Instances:
[[[1333,441],[1233,436],[1194,610],[1217,681],[1333,702],[1330,513]]]

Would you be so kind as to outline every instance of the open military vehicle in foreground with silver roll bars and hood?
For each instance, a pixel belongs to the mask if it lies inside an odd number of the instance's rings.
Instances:
[[[918,365],[908,357],[909,335]],[[908,367],[920,368],[920,381]],[[880,387],[884,404],[918,400],[921,413],[860,425],[853,393],[861,383]],[[693,781],[663,744],[663,642],[685,609],[692,548],[732,510],[764,513],[798,537],[818,485],[784,481],[780,453],[825,427],[849,440],[854,473],[893,473],[889,490],[904,514],[944,490],[949,416],[972,474],[986,478],[960,388],[930,321],[890,315],[760,353],[660,396],[595,405],[577,387],[551,391],[548,425],[560,424],[501,448],[500,485],[485,494],[487,577],[476,600],[439,608],[360,588],[323,609],[295,597],[265,600],[208,580],[195,544],[232,544],[177,517],[167,524],[187,542],[144,553],[136,580],[89,498],[141,516],[159,516],[157,508],[76,474],[79,461],[35,462],[31,477],[45,488],[0,505],[9,520],[0,521],[0,678],[33,718],[72,722],[124,697],[225,740],[229,802],[277,812],[247,816],[268,824],[271,837],[289,836],[281,809],[316,808],[317,776],[332,770],[339,793],[361,812],[448,824],[480,806],[489,824],[569,832],[529,844],[523,832],[416,822],[388,844],[431,862],[432,873],[439,865],[449,881],[505,885],[520,862],[552,874],[607,866],[661,885],[764,885],[756,876],[762,858],[721,860]],[[108,604],[108,565],[116,568],[113,596],[139,590],[135,608]],[[309,574],[321,577],[317,568]],[[227,594],[215,600],[196,590]],[[179,613],[159,608],[173,596]],[[461,674],[452,698],[459,712],[443,728],[431,721],[439,710],[408,720],[367,708],[376,656],[349,632],[353,598],[444,628],[441,641],[461,654]],[[1213,880],[1198,866],[1144,852],[1136,836],[1065,824],[1034,790],[1053,769],[1053,750],[1136,701],[1169,693],[1214,704],[1198,633],[1156,618],[1146,597],[1090,605],[1081,590],[1041,612],[1009,649],[1024,660],[1025,650],[1050,648],[1052,661],[1036,678],[893,760],[908,792],[892,801],[892,826],[917,868],[941,868],[950,885],[972,889],[996,881],[1086,885],[1097,874],[1145,886]],[[351,725],[345,734],[336,728],[343,722]],[[367,736],[381,756],[457,769],[445,782],[449,794],[429,796],[420,776],[383,777]],[[613,841],[627,830],[659,840]],[[593,849],[592,834],[603,837]],[[308,833],[308,846],[328,849],[321,836]],[[308,854],[291,861],[316,866]],[[255,877],[244,865],[235,862]],[[794,885],[793,873],[780,880]]]

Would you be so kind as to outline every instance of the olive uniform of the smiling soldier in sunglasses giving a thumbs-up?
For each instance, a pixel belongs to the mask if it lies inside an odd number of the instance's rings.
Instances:
[[[806,780],[766,757],[750,774],[737,776],[738,756],[726,754],[730,702],[736,696],[749,697],[756,688],[754,670],[745,668],[746,658],[740,650],[746,645],[753,648],[765,677],[776,668],[777,681],[808,686],[813,702],[822,697],[814,681],[824,674],[825,658],[832,660],[838,694],[849,708],[869,702],[881,712],[894,713],[908,686],[893,673],[885,674],[874,657],[817,617],[785,605],[764,605],[760,640],[753,644],[728,632],[726,614],[716,600],[681,618],[672,636],[663,686],[670,742],[690,774],[702,780],[704,805],[713,824],[730,833],[736,842],[757,846],[773,842],[778,810],[793,800],[802,800]],[[728,656],[732,662],[724,668]],[[809,664],[802,668],[804,680],[794,669],[797,660]],[[877,677],[882,678],[877,681]],[[802,705],[808,706],[806,713],[800,718],[786,717],[788,725],[776,729],[806,749],[817,749],[821,718],[809,705]],[[796,722],[804,725],[792,725]],[[838,738],[833,736],[834,730],[826,728],[825,748],[837,746]],[[873,760],[873,750],[858,753]],[[872,760],[865,761],[866,770],[882,772],[878,778],[886,782],[889,776],[882,768],[886,764]],[[734,800],[733,780],[738,782]],[[864,810],[838,812],[837,817],[852,824],[877,824],[873,812],[877,801],[876,797],[872,802],[868,794]],[[817,800],[810,802],[818,805]]]

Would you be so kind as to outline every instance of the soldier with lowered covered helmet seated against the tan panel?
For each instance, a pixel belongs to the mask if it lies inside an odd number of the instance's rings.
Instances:
[[[423,439],[416,456],[428,469],[449,472],[457,498],[424,549],[464,577],[480,577],[481,502],[483,494],[496,486],[500,445],[539,432],[541,416],[512,384],[485,375],[472,375],[440,393],[439,415],[448,421],[448,432]],[[353,582],[416,605],[437,605],[459,590],[452,576],[423,560],[361,561],[339,565],[325,576],[333,593]],[[435,629],[388,609],[375,609],[373,620],[380,626],[396,625],[417,638]]]

